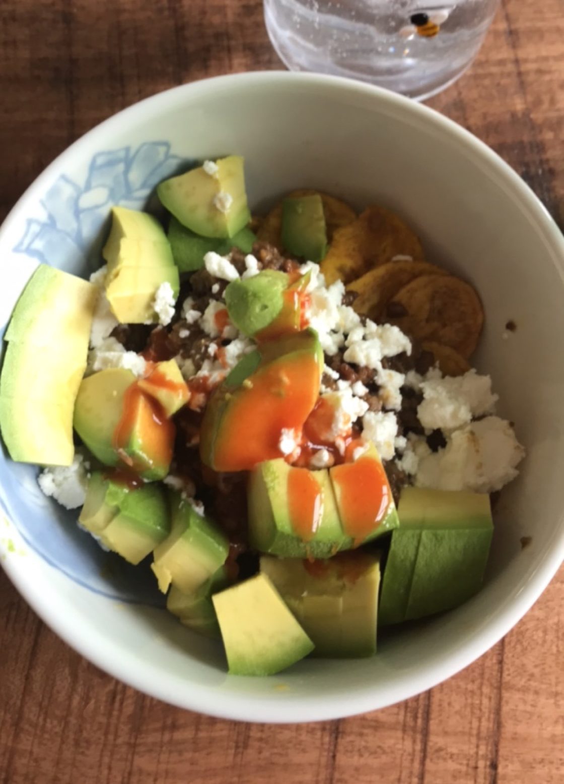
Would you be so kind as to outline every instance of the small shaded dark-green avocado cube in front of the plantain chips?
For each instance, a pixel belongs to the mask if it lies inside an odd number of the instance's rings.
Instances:
[[[327,253],[327,226],[319,194],[282,202],[282,245],[294,256],[321,261]]]

